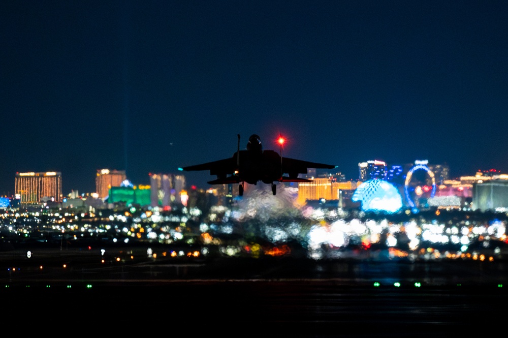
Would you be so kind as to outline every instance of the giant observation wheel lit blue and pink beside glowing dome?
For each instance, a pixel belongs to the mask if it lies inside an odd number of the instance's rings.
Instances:
[[[424,170],[428,177],[419,177],[418,179],[412,179],[413,173],[415,173],[417,170],[419,171],[418,173],[421,173],[421,170]],[[430,186],[427,184],[427,181],[431,182]],[[434,178],[434,173],[429,169],[429,167],[423,164],[418,164],[413,166],[411,170],[407,172],[406,180],[404,182],[404,194],[407,203],[409,203],[411,208],[420,207],[422,200],[421,197],[430,195],[430,198],[432,198],[434,197],[435,193],[436,180]]]

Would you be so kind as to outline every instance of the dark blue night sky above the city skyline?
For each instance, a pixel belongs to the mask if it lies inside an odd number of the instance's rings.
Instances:
[[[506,1],[0,2],[0,194],[17,171],[149,172],[231,157],[237,134],[337,165],[508,172]],[[206,188],[208,172],[187,173]]]

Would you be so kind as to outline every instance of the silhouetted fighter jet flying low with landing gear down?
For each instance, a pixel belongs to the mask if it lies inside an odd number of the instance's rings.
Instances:
[[[251,185],[256,185],[258,181],[271,184],[272,193],[275,195],[277,186],[274,182],[312,182],[310,179],[299,178],[298,175],[306,174],[308,168],[336,168],[336,166],[329,164],[282,157],[283,141],[283,138],[278,140],[280,155],[274,150],[263,150],[261,138],[256,134],[249,137],[247,150],[240,150],[240,135],[238,135],[237,151],[231,158],[178,169],[186,171],[210,170],[210,175],[217,175],[217,178],[209,181],[209,184],[240,183],[239,195],[242,196],[245,182]]]

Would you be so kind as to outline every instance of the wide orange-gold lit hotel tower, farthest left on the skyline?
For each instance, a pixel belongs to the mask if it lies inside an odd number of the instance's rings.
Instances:
[[[23,204],[40,203],[43,198],[60,203],[62,175],[60,172],[17,172],[15,194]]]

